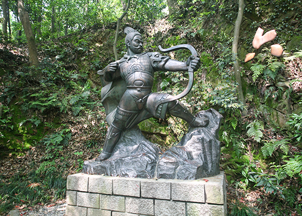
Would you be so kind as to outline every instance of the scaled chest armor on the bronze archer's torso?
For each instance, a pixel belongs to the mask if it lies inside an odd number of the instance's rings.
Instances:
[[[120,64],[122,78],[126,81],[127,87],[152,87],[154,81],[154,69],[146,54],[133,57]]]

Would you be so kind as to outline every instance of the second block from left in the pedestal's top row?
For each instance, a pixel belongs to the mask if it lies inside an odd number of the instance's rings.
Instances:
[[[88,191],[92,193],[112,194],[112,177],[89,175]]]

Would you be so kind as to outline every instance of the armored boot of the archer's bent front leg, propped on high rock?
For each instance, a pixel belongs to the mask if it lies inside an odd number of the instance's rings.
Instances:
[[[169,114],[182,118],[183,120],[185,120],[186,122],[188,122],[188,124],[191,127],[194,128],[202,128],[202,127],[206,127],[209,124],[209,118],[207,118],[206,116],[202,116],[202,117],[195,117],[192,113],[190,113],[190,111],[188,111],[184,105],[179,102],[179,101],[175,101],[176,104],[174,105],[174,101],[170,102],[170,104],[168,105],[168,112]],[[172,107],[169,107],[172,106]]]

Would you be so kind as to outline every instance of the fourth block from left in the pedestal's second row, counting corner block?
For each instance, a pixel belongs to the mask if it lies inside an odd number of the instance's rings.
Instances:
[[[153,200],[126,197],[126,212],[154,215]]]

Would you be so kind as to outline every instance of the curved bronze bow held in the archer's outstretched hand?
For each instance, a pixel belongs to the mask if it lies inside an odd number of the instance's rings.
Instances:
[[[198,57],[198,53],[195,50],[195,48],[193,46],[189,45],[189,44],[180,44],[180,45],[177,45],[177,46],[174,46],[174,47],[171,47],[171,48],[167,48],[167,49],[163,49],[159,45],[158,48],[162,52],[171,52],[171,51],[175,51],[175,50],[179,50],[179,49],[188,49],[188,50],[191,51],[192,56]],[[158,101],[155,104],[155,109],[157,109],[157,107],[162,103],[167,103],[167,102],[170,102],[170,101],[178,100],[178,99],[183,98],[184,96],[186,96],[192,89],[193,81],[194,81],[194,69],[192,68],[191,63],[190,63],[190,66],[188,68],[188,84],[187,84],[186,88],[184,89],[184,91],[182,93],[180,93],[179,95],[176,95],[176,96]]]

